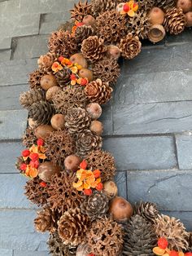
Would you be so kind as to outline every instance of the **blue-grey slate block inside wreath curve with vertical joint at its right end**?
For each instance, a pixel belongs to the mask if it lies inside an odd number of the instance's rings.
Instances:
[[[103,148],[113,154],[117,170],[172,169],[177,166],[172,137],[112,137]]]

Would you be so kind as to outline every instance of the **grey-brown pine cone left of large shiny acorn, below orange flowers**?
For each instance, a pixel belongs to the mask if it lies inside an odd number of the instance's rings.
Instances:
[[[85,201],[81,205],[81,213],[94,220],[104,217],[108,208],[109,198],[103,192],[95,191],[92,195],[85,197]]]

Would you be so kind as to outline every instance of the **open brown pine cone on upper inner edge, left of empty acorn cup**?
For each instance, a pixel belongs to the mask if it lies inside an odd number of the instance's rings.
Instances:
[[[137,36],[129,33],[126,38],[120,40],[119,48],[122,56],[125,59],[131,60],[140,53],[142,43]]]

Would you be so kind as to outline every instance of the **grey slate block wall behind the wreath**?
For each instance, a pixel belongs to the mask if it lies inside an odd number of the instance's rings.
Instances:
[[[36,208],[14,167],[27,119],[18,98],[74,2],[0,0],[0,256],[47,255],[47,236],[34,231]],[[143,45],[136,59],[121,63],[102,117],[104,148],[116,157],[120,195],[155,201],[191,230],[192,31]]]

